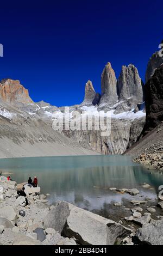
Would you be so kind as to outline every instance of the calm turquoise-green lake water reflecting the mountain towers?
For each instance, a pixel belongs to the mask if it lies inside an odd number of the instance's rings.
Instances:
[[[11,172],[21,183],[37,176],[41,193],[50,193],[49,203],[66,200],[104,215],[106,205],[125,200],[156,199],[163,175],[134,164],[129,156],[60,156],[1,159],[0,169]],[[142,188],[147,182],[153,189]],[[110,187],[138,188],[140,194],[130,196],[109,191]]]

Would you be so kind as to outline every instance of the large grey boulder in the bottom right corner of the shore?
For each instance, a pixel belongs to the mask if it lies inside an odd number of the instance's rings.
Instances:
[[[138,243],[163,245],[163,220],[143,225],[136,230],[135,236]]]

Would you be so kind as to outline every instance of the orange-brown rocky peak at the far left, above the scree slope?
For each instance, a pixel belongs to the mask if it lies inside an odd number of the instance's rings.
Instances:
[[[11,79],[1,81],[0,99],[11,104],[33,102],[28,90],[20,84],[20,81]]]

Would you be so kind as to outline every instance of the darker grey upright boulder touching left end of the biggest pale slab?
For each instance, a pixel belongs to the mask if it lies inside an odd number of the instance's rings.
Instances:
[[[56,231],[59,231],[59,233],[61,233],[69,214],[70,209],[68,203],[63,201],[59,202],[57,203],[57,205],[55,205],[55,207],[52,210],[48,212],[47,216],[44,218],[43,227],[45,229],[53,228]]]

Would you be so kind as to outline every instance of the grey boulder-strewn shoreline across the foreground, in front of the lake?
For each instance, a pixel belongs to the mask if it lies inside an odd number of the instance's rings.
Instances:
[[[26,206],[24,197],[16,198],[16,181],[0,176],[0,245],[162,245],[163,216],[153,219],[155,206],[147,206],[145,212],[142,205],[148,201],[134,200],[136,188],[110,190],[133,196],[126,225],[64,201],[49,206],[48,194],[28,194]],[[157,206],[162,211],[163,201]]]

